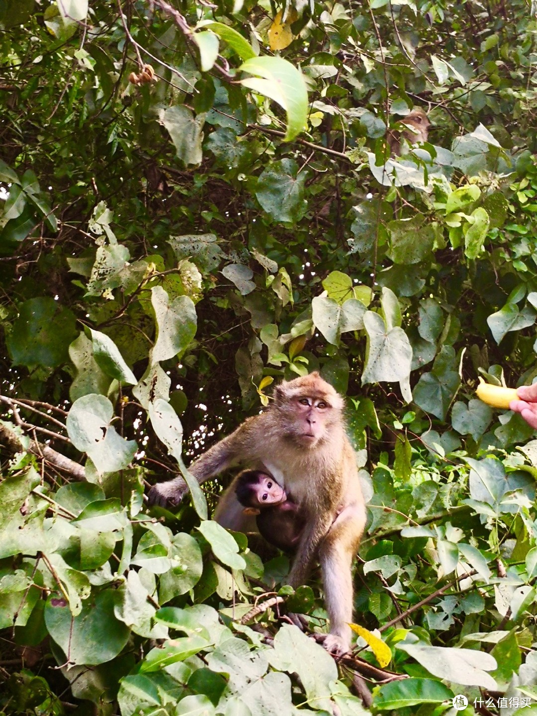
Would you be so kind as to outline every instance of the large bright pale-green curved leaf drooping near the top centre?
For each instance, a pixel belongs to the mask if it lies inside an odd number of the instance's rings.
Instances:
[[[302,73],[291,62],[281,57],[251,57],[239,67],[242,72],[256,74],[242,79],[241,84],[260,95],[278,102],[287,113],[287,131],[284,139],[289,142],[306,127],[308,92]]]

